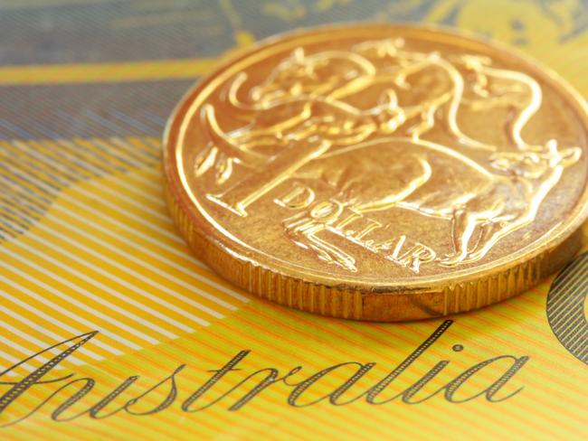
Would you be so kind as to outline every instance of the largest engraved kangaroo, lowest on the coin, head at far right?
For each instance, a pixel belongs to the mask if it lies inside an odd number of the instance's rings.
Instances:
[[[547,193],[564,168],[580,157],[579,147],[557,148],[555,140],[542,152],[499,152],[488,168],[464,155],[427,141],[379,139],[345,151],[326,154],[300,170],[330,183],[331,202],[285,221],[287,234],[328,262],[355,270],[355,259],[318,234],[337,228],[343,208],[357,214],[393,208],[418,211],[450,220],[453,252],[438,258],[455,266],[483,258],[496,242],[536,217]],[[342,156],[349,155],[345,167]],[[336,205],[337,204],[337,205]]]

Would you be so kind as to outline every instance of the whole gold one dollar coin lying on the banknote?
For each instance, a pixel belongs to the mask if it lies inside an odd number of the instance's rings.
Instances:
[[[432,28],[278,36],[176,108],[166,198],[199,258],[318,314],[489,305],[574,256],[588,112],[535,61]]]

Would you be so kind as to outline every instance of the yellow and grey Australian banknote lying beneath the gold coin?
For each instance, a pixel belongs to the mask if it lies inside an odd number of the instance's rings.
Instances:
[[[350,21],[506,42],[588,97],[583,1],[0,1],[0,437],[583,439],[588,254],[499,305],[370,324],[191,256],[166,118],[226,54]]]

